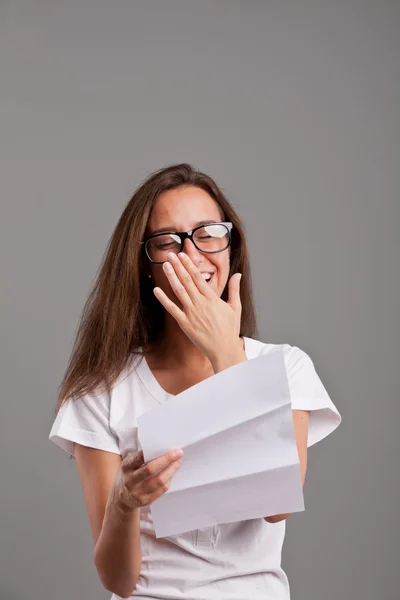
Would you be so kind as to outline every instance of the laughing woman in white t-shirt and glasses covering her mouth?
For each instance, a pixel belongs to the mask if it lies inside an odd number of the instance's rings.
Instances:
[[[182,462],[144,462],[137,417],[222,369],[281,348],[302,480],[307,446],[340,415],[310,357],[254,338],[243,225],[188,164],[147,178],[126,206],[85,306],[50,439],[76,459],[104,587],[159,600],[287,600],[287,514],[156,538],[150,506]]]

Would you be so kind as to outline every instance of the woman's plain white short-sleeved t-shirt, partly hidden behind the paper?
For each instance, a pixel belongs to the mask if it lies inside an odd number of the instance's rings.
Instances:
[[[282,350],[293,409],[309,410],[308,446],[341,421],[311,358],[297,346],[245,337],[248,359]],[[74,442],[122,454],[139,450],[137,418],[168,401],[146,359],[135,357],[111,395],[91,394],[64,403],[49,439],[74,455]],[[268,515],[265,515],[268,516]],[[285,521],[251,519],[177,536],[156,538],[149,506],[140,509],[142,568],[137,600],[289,600],[281,568]],[[118,600],[113,594],[111,600]]]

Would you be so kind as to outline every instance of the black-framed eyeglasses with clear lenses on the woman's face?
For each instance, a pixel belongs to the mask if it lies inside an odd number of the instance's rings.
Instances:
[[[168,260],[168,253],[178,254],[183,243],[189,238],[200,252],[214,254],[226,250],[231,243],[232,223],[207,223],[189,231],[166,231],[155,233],[140,242],[144,245],[147,258],[152,263],[161,264]]]

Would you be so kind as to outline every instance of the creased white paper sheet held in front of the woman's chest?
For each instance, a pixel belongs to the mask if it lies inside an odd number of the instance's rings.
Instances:
[[[172,396],[138,418],[144,459],[182,448],[169,490],[151,504],[156,537],[304,510],[281,350]]]

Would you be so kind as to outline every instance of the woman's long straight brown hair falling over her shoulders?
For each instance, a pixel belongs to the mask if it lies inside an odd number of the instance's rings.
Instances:
[[[256,334],[248,248],[239,216],[215,181],[192,165],[182,163],[160,169],[135,191],[111,236],[82,311],[56,411],[69,397],[89,394],[98,388],[110,393],[133,355],[147,352],[161,337],[165,309],[153,294],[140,241],[158,196],[186,186],[205,190],[219,205],[223,220],[233,224],[228,280],[233,273],[242,273],[240,335]],[[228,299],[227,285],[221,298]]]

